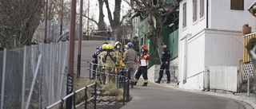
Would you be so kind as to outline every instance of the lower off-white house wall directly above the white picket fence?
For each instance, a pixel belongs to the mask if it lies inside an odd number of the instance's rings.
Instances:
[[[240,32],[206,29],[206,66],[238,66],[242,59]]]

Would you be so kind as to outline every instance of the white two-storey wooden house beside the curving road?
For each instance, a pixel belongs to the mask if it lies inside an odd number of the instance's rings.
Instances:
[[[238,66],[242,26],[255,30],[247,8],[254,0],[182,0],[179,7],[179,88],[209,87],[210,66]],[[234,77],[235,78],[235,77]]]

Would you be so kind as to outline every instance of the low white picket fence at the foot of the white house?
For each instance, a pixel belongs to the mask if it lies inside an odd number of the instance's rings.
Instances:
[[[210,89],[238,90],[238,68],[233,66],[210,66]]]

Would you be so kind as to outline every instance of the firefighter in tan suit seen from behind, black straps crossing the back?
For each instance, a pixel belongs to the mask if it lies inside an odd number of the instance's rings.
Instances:
[[[106,83],[109,82],[114,82],[114,78],[110,78],[110,71],[111,68],[114,68],[114,63],[117,61],[115,57],[115,53],[113,50],[112,45],[108,44],[106,46],[106,51],[102,52],[102,62],[105,63],[106,69],[105,69],[105,74],[106,74]],[[110,80],[110,81],[109,81]]]

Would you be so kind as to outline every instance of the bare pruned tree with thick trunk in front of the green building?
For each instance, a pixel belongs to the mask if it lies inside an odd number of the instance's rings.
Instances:
[[[126,2],[130,4],[127,0]],[[150,33],[154,36],[154,44],[160,57],[162,53],[162,47],[160,46],[162,43],[162,33],[165,29],[163,24],[178,9],[179,0],[173,0],[171,3],[166,2],[166,0],[134,0],[134,2],[135,7],[130,5],[131,8],[148,19]]]

